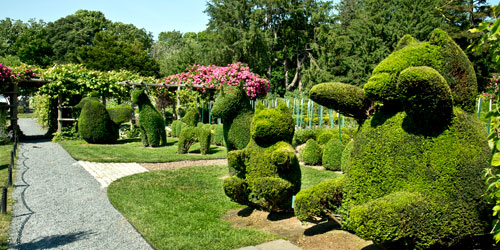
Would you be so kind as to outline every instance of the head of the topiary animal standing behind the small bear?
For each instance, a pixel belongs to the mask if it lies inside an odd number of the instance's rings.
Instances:
[[[215,99],[212,115],[217,118],[231,119],[239,112],[250,109],[250,99],[242,86],[226,86]]]

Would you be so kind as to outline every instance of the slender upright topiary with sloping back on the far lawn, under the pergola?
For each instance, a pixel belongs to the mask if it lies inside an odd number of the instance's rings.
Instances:
[[[135,88],[132,91],[132,103],[139,107],[139,129],[142,144],[145,147],[167,145],[165,120],[160,112],[153,107],[143,88]]]

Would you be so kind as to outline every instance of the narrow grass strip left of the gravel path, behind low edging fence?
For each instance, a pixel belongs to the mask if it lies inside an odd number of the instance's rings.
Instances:
[[[0,146],[0,186],[3,186],[4,183],[7,183],[11,151],[12,151],[12,144]],[[9,188],[9,202],[7,203],[7,214],[5,215],[0,214],[0,249],[7,249],[9,246],[8,231],[10,228],[10,221],[11,221],[11,209],[12,209],[11,193],[13,190],[14,190],[13,188]]]

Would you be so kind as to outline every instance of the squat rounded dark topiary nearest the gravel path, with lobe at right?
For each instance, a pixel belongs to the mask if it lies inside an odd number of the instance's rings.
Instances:
[[[78,132],[88,143],[115,143],[119,125],[130,120],[132,115],[132,108],[128,105],[106,109],[104,104],[94,97],[83,98],[76,108],[81,109]]]

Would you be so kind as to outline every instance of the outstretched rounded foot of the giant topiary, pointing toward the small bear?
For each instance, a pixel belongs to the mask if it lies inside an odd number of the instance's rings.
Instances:
[[[300,191],[295,197],[297,219],[327,217],[327,211],[335,211],[342,204],[343,182],[344,176],[341,176]]]

